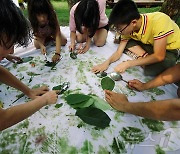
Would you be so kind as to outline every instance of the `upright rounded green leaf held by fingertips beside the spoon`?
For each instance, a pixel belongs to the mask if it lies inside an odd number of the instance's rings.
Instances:
[[[101,86],[103,90],[113,90],[115,82],[111,78],[105,77],[101,80]]]

